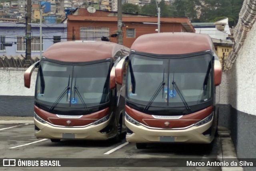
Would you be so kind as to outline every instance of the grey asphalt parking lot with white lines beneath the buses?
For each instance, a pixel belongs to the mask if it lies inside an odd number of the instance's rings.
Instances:
[[[70,161],[72,167],[54,167],[54,170],[124,170],[124,171],[220,171],[221,167],[175,167],[177,159],[216,159],[222,156],[221,137],[216,137],[212,150],[200,144],[150,144],[146,149],[136,149],[134,143],[109,141],[61,140],[53,143],[49,139],[34,137],[34,124],[0,124],[1,158],[59,159]],[[125,135],[124,135],[125,136]],[[92,159],[82,163],[81,159]],[[94,160],[95,159],[95,162]],[[98,160],[101,159],[101,160]],[[104,161],[104,159],[107,161]],[[111,160],[112,159],[112,160]],[[125,159],[125,160],[122,160]],[[142,159],[142,160],[141,160]],[[166,160],[168,159],[168,160]],[[78,161],[76,163],[76,160]],[[102,162],[101,162],[102,161]],[[162,163],[159,164],[159,161]],[[170,166],[170,161],[174,167]],[[88,160],[84,161],[88,162]],[[110,163],[108,163],[110,162]],[[112,163],[111,163],[112,162]],[[121,162],[121,163],[120,163]],[[125,162],[125,163],[122,163]],[[144,163],[143,163],[144,162]],[[147,163],[148,162],[148,163]],[[168,163],[167,163],[168,162]],[[129,164],[130,163],[130,164]],[[108,165],[110,164],[110,165]],[[116,166],[118,167],[115,167]],[[67,164],[66,164],[67,165]],[[86,167],[88,165],[88,167]],[[130,166],[129,166],[130,165]],[[156,165],[157,167],[154,167]],[[92,167],[91,167],[92,166]],[[140,167],[142,166],[142,167]],[[147,167],[149,166],[149,167]],[[160,167],[161,166],[161,167]],[[2,167],[1,170],[52,171],[53,167]]]

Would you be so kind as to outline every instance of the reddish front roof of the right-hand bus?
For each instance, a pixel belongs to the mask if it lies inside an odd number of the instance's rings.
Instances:
[[[179,55],[199,51],[214,50],[209,35],[198,33],[153,33],[138,37],[131,50],[160,54]]]

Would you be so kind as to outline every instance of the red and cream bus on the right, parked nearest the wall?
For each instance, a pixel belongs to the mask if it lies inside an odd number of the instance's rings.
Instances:
[[[222,71],[208,35],[142,35],[126,60],[128,142],[140,149],[146,143],[213,141],[218,122],[215,86],[221,83]],[[118,65],[124,65],[121,62]],[[122,78],[116,82],[122,84]]]

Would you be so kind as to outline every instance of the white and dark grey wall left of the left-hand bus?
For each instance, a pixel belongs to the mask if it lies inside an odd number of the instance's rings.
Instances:
[[[31,78],[31,88],[24,86],[26,69],[0,68],[0,116],[33,116],[37,70]]]

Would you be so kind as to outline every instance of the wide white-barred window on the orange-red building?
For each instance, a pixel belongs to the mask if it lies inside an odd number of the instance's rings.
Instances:
[[[101,37],[109,36],[109,27],[97,26],[81,26],[80,27],[80,40],[96,40],[100,41]]]

